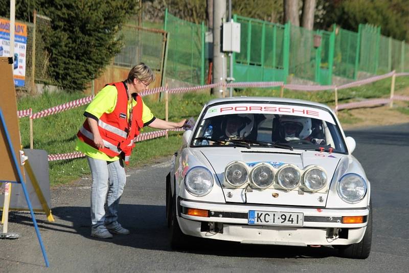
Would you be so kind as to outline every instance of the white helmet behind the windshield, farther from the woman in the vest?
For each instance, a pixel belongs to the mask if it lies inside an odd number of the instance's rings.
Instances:
[[[303,140],[312,133],[311,118],[283,116],[280,118],[280,135],[286,141]]]

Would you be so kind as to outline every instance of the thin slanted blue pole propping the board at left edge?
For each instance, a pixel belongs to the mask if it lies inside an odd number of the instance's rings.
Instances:
[[[4,117],[3,117],[2,108],[0,108],[0,118],[2,120],[4,132],[6,134],[7,143],[9,145],[10,153],[13,156],[14,166],[15,166],[15,168],[17,170],[18,179],[19,179],[19,181],[17,181],[17,182],[21,183],[22,190],[24,191],[24,196],[26,197],[26,201],[27,201],[27,204],[28,204],[29,209],[30,209],[31,217],[33,218],[35,232],[37,233],[38,242],[40,243],[42,256],[44,257],[44,261],[46,262],[46,266],[49,267],[50,264],[48,262],[46,249],[44,249],[44,245],[42,244],[41,234],[40,234],[40,231],[38,230],[37,221],[35,220],[35,217],[34,217],[34,212],[33,212],[33,208],[31,207],[31,202],[30,202],[29,195],[27,193],[26,185],[24,184],[24,181],[22,179],[22,175],[21,175],[21,172],[20,172],[20,168],[18,167],[17,158],[16,158],[16,155],[14,153],[13,145],[11,144],[10,135],[9,135],[8,130],[7,130],[6,121],[4,120]]]

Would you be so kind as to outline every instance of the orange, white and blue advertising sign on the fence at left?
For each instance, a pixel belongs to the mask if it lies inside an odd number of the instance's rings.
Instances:
[[[15,22],[14,29],[14,85],[24,86],[26,78],[27,25]],[[3,18],[0,18],[0,57],[11,57],[10,21]]]

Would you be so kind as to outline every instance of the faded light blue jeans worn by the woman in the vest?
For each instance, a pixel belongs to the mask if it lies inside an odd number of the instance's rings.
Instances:
[[[91,225],[93,230],[118,220],[119,200],[124,191],[126,176],[122,160],[104,161],[86,157],[93,177],[91,187]]]

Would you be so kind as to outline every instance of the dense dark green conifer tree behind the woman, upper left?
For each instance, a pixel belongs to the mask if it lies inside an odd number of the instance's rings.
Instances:
[[[9,17],[10,5],[4,4],[0,14]],[[137,7],[135,0],[37,0],[30,6],[25,1],[16,5],[16,18],[28,20],[34,9],[51,18],[52,31],[46,35],[50,76],[74,92],[85,89],[120,52],[119,31]]]

